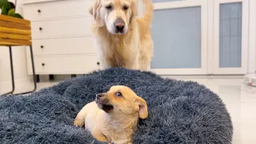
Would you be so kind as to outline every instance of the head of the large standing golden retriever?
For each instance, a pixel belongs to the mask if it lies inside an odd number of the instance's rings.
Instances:
[[[90,14],[97,26],[106,26],[111,34],[126,34],[136,16],[135,0],[94,0]]]

